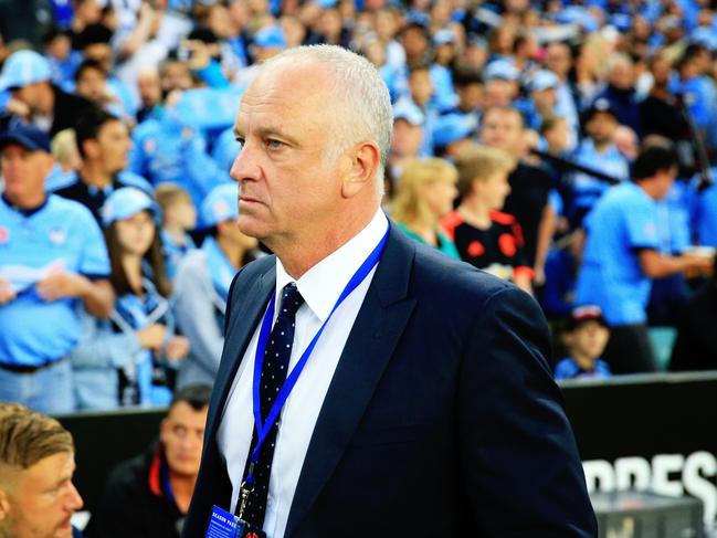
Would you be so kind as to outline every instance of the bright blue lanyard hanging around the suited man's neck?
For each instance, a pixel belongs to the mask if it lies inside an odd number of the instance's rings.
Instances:
[[[252,473],[252,470],[254,467],[254,464],[259,462],[259,455],[262,450],[262,445],[264,444],[264,441],[268,436],[268,432],[271,431],[272,426],[276,422],[276,419],[278,419],[278,414],[282,412],[282,408],[286,403],[286,400],[288,399],[292,389],[294,389],[294,386],[296,384],[296,381],[298,380],[302,370],[306,366],[306,362],[308,361],[308,358],[312,355],[312,351],[314,350],[314,347],[316,346],[318,338],[321,336],[321,333],[324,333],[324,329],[326,328],[326,324],[328,324],[329,319],[331,319],[331,315],[336,312],[336,309],[344,302],[344,299],[348,297],[351,294],[351,292],[354,292],[354,289],[356,289],[358,285],[361,284],[361,282],[363,282],[363,279],[368,276],[368,274],[379,263],[379,260],[381,259],[381,253],[383,252],[383,247],[386,246],[386,242],[388,238],[389,238],[389,230],[386,231],[383,238],[381,238],[381,241],[379,241],[379,243],[376,245],[373,251],[369,254],[366,261],[361,264],[361,266],[358,268],[358,271],[354,274],[351,279],[348,282],[348,284],[344,288],[344,292],[341,292],[341,295],[339,296],[338,300],[334,305],[334,308],[331,308],[331,312],[329,313],[326,320],[324,321],[324,325],[321,325],[321,327],[318,329],[318,333],[316,333],[316,335],[309,342],[304,354],[302,354],[302,357],[298,359],[296,366],[292,369],[292,371],[286,377],[286,381],[284,381],[284,384],[282,386],[281,390],[278,391],[278,394],[276,395],[276,400],[274,400],[274,404],[272,405],[272,409],[268,411],[268,414],[266,415],[266,422],[262,422],[260,387],[261,387],[261,378],[262,378],[264,350],[266,349],[266,342],[268,341],[268,337],[272,331],[272,321],[274,319],[274,303],[276,296],[275,294],[272,295],[272,299],[268,303],[268,308],[266,309],[266,314],[264,315],[264,319],[262,320],[262,328],[259,333],[259,342],[256,344],[256,356],[254,358],[253,408],[254,408],[254,425],[256,428],[257,439],[256,439],[256,446],[252,452],[252,458],[250,462],[251,463],[250,472],[246,475],[246,484],[249,486],[254,485],[254,475]]]

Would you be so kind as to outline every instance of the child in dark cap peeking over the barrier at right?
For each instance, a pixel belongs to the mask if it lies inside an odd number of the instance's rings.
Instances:
[[[584,305],[572,310],[563,336],[568,356],[556,366],[556,379],[609,378],[608,363],[600,358],[610,329],[599,306]]]

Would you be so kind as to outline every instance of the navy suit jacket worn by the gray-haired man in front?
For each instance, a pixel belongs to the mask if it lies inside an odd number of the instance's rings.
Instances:
[[[232,380],[275,287],[275,259],[233,284],[183,537],[232,486],[217,443]],[[537,304],[408,239],[383,256],[321,407],[286,537],[595,537]],[[270,537],[274,538],[274,537]]]

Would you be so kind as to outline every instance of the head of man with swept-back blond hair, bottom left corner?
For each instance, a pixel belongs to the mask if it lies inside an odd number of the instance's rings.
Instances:
[[[68,431],[23,405],[0,403],[0,536],[80,537],[70,523],[82,508],[74,471]]]

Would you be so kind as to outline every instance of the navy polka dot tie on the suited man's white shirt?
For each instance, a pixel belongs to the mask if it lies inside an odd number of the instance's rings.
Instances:
[[[294,342],[294,325],[296,323],[296,310],[304,304],[304,297],[298,293],[295,283],[289,283],[282,289],[278,314],[272,334],[266,342],[264,351],[264,365],[262,368],[260,398],[262,420],[266,420],[268,411],[278,394],[288,371],[288,360],[292,356]],[[249,495],[243,519],[261,528],[264,525],[266,513],[266,497],[268,495],[268,478],[272,473],[272,460],[274,458],[274,446],[276,444],[276,432],[278,421],[272,426],[266,440],[262,444],[259,463],[254,467],[256,483]],[[252,444],[249,449],[249,458],[244,468],[244,479],[249,471],[249,460],[256,446],[256,428],[252,435]]]

